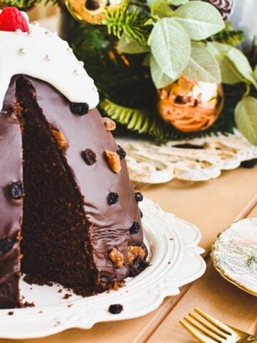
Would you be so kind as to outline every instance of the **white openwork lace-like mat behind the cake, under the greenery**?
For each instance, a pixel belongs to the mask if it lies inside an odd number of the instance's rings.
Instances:
[[[139,139],[117,141],[126,150],[129,175],[136,183],[160,184],[174,178],[206,181],[220,176],[222,170],[236,169],[242,161],[257,158],[257,146],[238,131],[165,144]],[[186,148],[181,147],[185,144]]]

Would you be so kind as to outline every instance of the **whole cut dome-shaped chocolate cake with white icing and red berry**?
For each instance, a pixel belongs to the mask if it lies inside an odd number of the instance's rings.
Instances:
[[[66,41],[14,7],[0,14],[0,308],[29,283],[82,296],[146,267],[141,212],[115,124]]]

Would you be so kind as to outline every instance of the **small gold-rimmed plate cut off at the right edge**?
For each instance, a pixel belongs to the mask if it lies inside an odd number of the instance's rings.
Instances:
[[[211,259],[222,277],[257,297],[257,218],[239,220],[221,232]]]

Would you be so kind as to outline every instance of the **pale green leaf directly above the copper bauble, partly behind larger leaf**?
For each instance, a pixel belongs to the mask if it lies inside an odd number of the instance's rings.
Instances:
[[[197,81],[221,83],[218,62],[205,46],[196,43],[191,46],[191,57],[183,74]]]

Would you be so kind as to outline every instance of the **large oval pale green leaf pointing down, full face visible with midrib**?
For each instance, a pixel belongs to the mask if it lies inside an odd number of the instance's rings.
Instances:
[[[183,27],[171,18],[159,20],[148,41],[164,74],[176,79],[188,64],[191,44]]]

